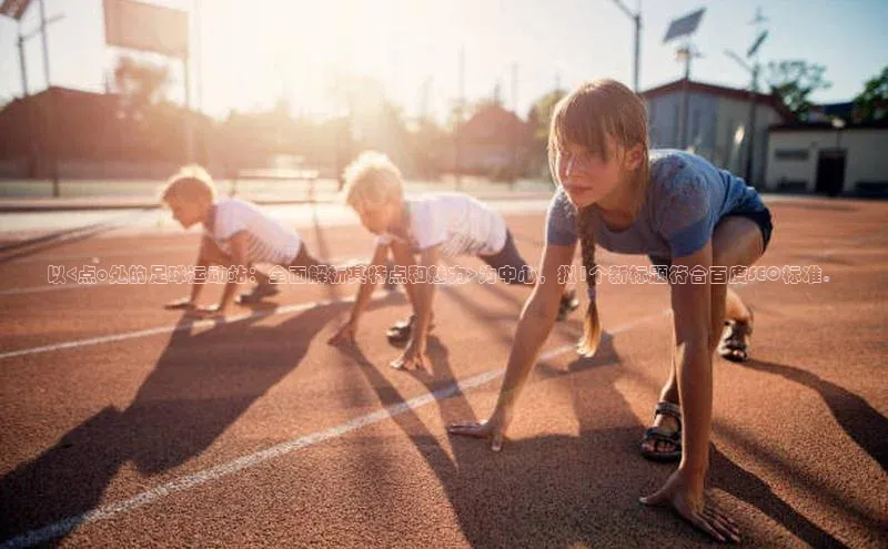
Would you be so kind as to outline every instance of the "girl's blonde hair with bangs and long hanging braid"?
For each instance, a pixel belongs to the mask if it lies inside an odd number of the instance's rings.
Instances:
[[[586,82],[555,105],[548,133],[549,170],[561,185],[556,155],[567,143],[579,145],[607,162],[610,155],[608,138],[614,140],[623,154],[629,148],[642,145],[643,159],[632,176],[632,183],[639,187],[639,192],[635,193],[637,201],[633,204],[633,211],[637,213],[649,179],[647,111],[640,96],[615,80]],[[596,266],[592,207],[577,212],[577,234],[591,296],[578,348],[584,355],[591,356],[598,349],[602,338],[602,325],[594,299]]]

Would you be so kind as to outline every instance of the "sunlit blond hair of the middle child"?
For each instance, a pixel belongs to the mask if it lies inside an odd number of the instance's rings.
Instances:
[[[364,202],[385,204],[401,201],[404,195],[401,170],[376,151],[361,153],[345,167],[345,203],[351,207]]]

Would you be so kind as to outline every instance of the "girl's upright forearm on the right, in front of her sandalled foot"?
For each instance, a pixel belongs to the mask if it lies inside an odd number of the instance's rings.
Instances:
[[[713,362],[707,342],[680,344],[676,367],[684,423],[682,468],[703,475],[709,462],[713,421]]]

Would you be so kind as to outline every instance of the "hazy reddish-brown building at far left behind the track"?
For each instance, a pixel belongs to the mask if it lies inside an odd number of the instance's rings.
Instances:
[[[199,134],[212,124],[188,115]],[[185,161],[183,111],[170,103],[52,87],[0,110],[0,176],[161,177]]]

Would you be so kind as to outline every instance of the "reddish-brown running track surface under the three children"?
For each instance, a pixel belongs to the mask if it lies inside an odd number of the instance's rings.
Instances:
[[[888,207],[810,199],[771,210],[761,264],[819,265],[829,282],[739,287],[756,311],[754,359],[715,363],[715,497],[744,545],[886,547]],[[508,217],[534,263],[543,217]],[[321,256],[370,253],[360,227],[302,233]],[[504,366],[519,287],[441,288],[431,372],[387,367],[398,350],[383,328],[407,312],[400,293],[374,302],[347,350],[325,344],[347,303],[295,305],[353,287],[291,285],[274,299],[291,307],[191,327],[161,307],[185,286],[14,292],[47,286],[49,265],[188,265],[195,252],[194,235],[112,231],[0,260],[0,543],[709,545],[637,502],[673,469],[637,451],[668,367],[664,286],[599,288],[612,336],[593,359],[565,347],[578,315],[556,327],[502,454],[444,425],[492,409],[501,378],[477,376]],[[414,400],[454,382],[470,386]]]

